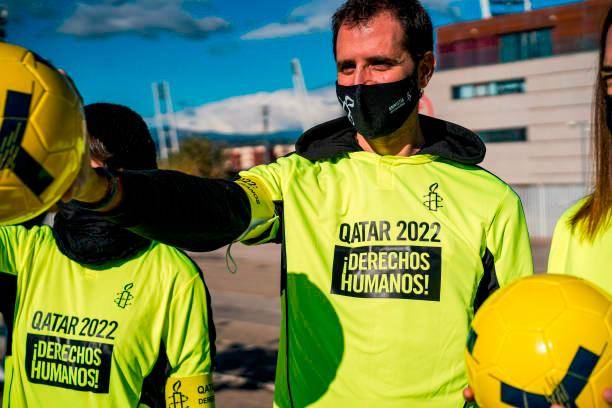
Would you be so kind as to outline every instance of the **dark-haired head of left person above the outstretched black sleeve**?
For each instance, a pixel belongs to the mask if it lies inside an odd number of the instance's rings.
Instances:
[[[84,109],[93,159],[110,169],[157,168],[155,143],[139,114],[113,103],[94,103]]]

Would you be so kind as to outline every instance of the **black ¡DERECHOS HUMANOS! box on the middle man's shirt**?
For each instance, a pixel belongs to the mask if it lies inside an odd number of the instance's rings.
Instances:
[[[440,247],[336,246],[331,293],[439,301],[441,259]]]

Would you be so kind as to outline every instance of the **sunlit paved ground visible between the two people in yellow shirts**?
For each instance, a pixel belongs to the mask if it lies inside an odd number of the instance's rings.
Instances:
[[[239,268],[236,274],[227,271],[225,249],[192,254],[213,297],[217,406],[270,408],[280,323],[280,246],[236,245],[232,254]],[[534,243],[536,271],[545,270],[547,254],[548,242]]]

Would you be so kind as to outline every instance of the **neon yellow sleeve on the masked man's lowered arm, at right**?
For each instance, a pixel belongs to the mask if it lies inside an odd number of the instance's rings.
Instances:
[[[500,287],[518,278],[533,275],[525,213],[520,198],[510,187],[506,187],[506,193],[487,232],[485,258],[489,261],[483,261],[483,264],[488,263],[493,268]]]

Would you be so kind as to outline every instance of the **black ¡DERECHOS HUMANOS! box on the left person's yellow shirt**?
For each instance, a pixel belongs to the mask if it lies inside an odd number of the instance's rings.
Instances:
[[[28,334],[26,374],[35,384],[107,394],[113,345]]]

